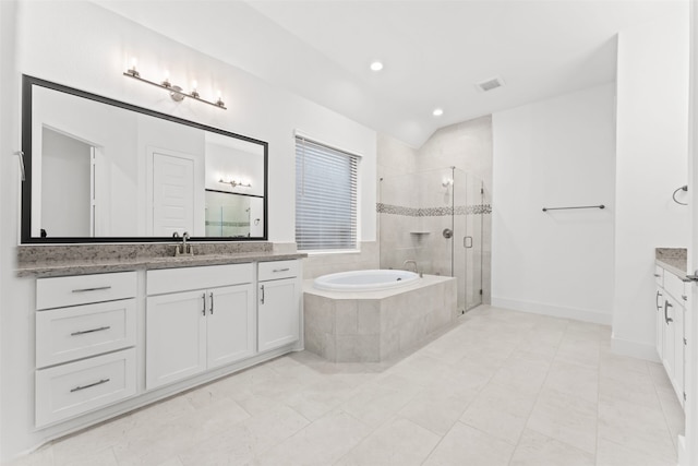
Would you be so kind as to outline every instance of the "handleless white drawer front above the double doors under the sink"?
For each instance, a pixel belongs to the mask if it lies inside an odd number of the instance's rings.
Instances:
[[[207,265],[147,272],[147,294],[188,291],[252,283],[252,264]]]

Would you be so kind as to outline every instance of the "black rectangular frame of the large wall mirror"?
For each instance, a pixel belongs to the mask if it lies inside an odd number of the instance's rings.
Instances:
[[[241,241],[267,241],[268,238],[268,151],[269,145],[265,141],[248,138],[242,134],[231,133],[218,128],[208,127],[196,123],[194,121],[184,120],[167,113],[148,110],[143,107],[115,100],[108,97],[99,96],[62,84],[52,83],[50,81],[33,77],[26,74],[22,75],[22,162],[24,164],[25,179],[22,182],[22,244],[46,244],[46,243],[115,243],[115,242],[171,242],[171,237],[32,237],[32,89],[34,86],[50,88],[53,91],[72,94],[77,97],[87,98],[107,105],[112,105],[127,110],[136,111],[139,113],[148,115],[155,118],[161,118],[174,123],[185,124],[204,131],[210,131],[225,136],[239,139],[242,141],[260,144],[264,147],[264,235],[263,237],[253,238],[230,238],[230,237],[192,237],[192,241],[210,241],[210,242],[241,242]],[[243,194],[244,195],[244,194]]]

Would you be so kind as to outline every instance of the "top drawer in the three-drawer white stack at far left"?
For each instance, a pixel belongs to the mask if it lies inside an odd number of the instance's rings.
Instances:
[[[113,301],[135,294],[135,272],[37,278],[36,309]]]

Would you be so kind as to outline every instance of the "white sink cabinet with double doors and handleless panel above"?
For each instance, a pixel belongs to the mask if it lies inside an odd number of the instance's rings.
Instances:
[[[146,389],[255,354],[252,264],[148,271]]]

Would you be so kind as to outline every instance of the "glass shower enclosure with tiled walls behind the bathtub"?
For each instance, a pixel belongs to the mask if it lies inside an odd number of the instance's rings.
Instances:
[[[456,277],[458,310],[482,303],[483,183],[455,167],[380,180],[381,268]]]

